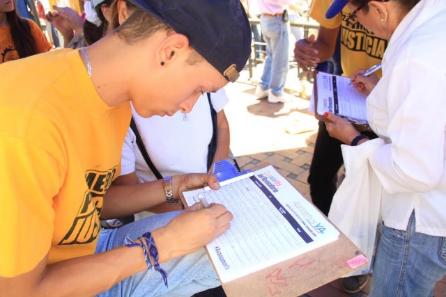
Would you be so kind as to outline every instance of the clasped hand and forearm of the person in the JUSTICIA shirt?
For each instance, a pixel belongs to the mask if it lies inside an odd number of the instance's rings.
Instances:
[[[309,38],[298,40],[294,47],[295,60],[304,71],[316,67],[318,63],[327,61],[334,54],[339,27],[328,29],[319,26],[318,37],[310,35]]]

